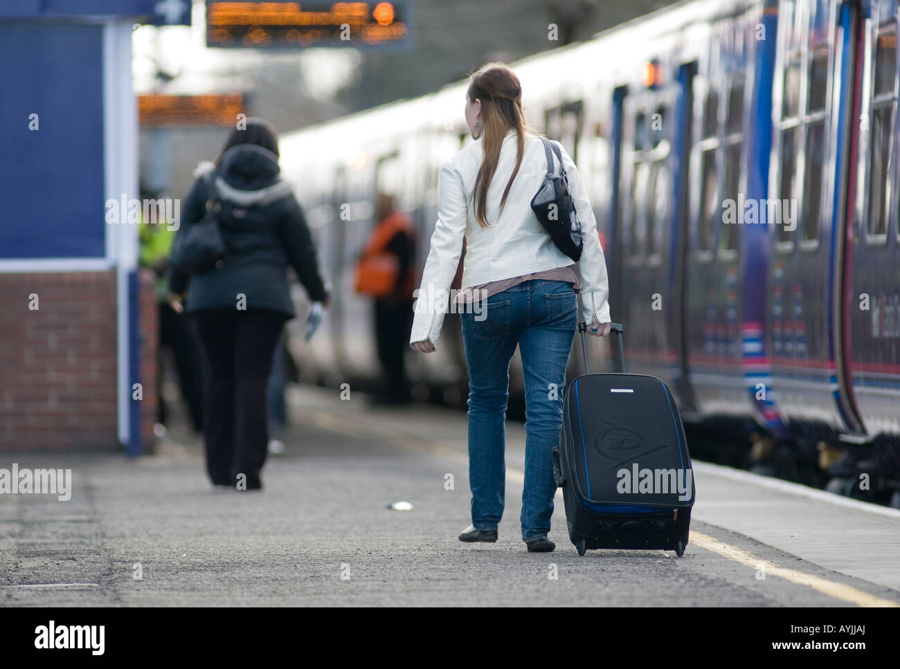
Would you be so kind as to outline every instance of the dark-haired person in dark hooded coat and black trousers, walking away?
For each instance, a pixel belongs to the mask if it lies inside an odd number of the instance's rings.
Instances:
[[[329,301],[310,228],[280,176],[275,128],[254,118],[246,125],[231,131],[215,164],[198,166],[178,231],[186,234],[218,198],[227,254],[209,272],[169,275],[170,303],[192,317],[202,343],[207,473],[214,485],[238,490],[262,487],[266,385],[275,343],[295,316],[288,265],[312,301]]]

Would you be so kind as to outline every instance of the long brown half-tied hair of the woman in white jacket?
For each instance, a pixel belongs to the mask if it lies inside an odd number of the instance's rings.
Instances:
[[[503,138],[510,129],[516,130],[518,157],[516,168],[512,171],[503,198],[500,200],[500,211],[506,204],[509,189],[522,165],[522,154],[525,151],[525,114],[522,113],[522,85],[509,67],[502,63],[488,63],[482,66],[469,80],[469,100],[482,101],[482,166],[478,170],[473,197],[475,201],[475,220],[482,227],[488,227],[488,188],[500,162],[500,147]]]

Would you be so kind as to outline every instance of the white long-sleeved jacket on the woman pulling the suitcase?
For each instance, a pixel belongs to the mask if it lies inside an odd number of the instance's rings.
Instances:
[[[414,296],[417,302],[410,343],[428,340],[437,345],[464,236],[464,288],[573,264],[572,258],[556,247],[531,210],[531,200],[547,172],[544,145],[535,135],[526,135],[522,165],[500,213],[500,199],[516,165],[516,144],[516,132],[510,130],[503,139],[497,171],[488,189],[490,227],[481,227],[475,220],[473,201],[475,179],[482,164],[482,142],[475,141],[465,147],[441,169],[437,223],[421,287]],[[600,246],[597,221],[578,168],[564,148],[563,163],[584,239],[579,263],[583,317],[589,324],[594,319],[608,323],[607,263]],[[558,166],[556,174],[559,174]]]

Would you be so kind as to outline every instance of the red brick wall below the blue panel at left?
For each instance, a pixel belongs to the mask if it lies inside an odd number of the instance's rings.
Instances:
[[[152,281],[140,283],[152,301]],[[156,315],[141,311],[153,315],[141,357],[155,357]],[[120,448],[116,313],[115,272],[0,273],[0,450]],[[154,368],[141,379],[146,423],[156,363],[142,367]]]

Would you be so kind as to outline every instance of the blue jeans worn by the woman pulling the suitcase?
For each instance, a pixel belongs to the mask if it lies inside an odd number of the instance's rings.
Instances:
[[[518,344],[525,370],[525,488],[522,540],[550,531],[553,456],[563,426],[565,370],[578,320],[572,284],[532,280],[491,295],[481,318],[461,314],[469,370],[469,487],[472,524],[493,530],[503,515],[509,361]]]

